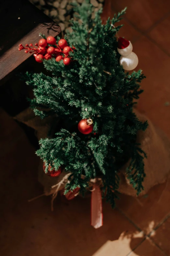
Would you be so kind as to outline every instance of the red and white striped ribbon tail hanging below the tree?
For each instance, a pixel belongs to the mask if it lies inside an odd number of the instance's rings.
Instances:
[[[93,186],[91,197],[91,226],[95,229],[103,226],[102,193],[96,184]]]

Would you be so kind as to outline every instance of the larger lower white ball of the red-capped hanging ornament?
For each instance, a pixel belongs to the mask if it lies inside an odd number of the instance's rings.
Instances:
[[[130,71],[137,67],[138,58],[134,52],[131,52],[128,56],[120,56],[119,62],[123,69]]]

